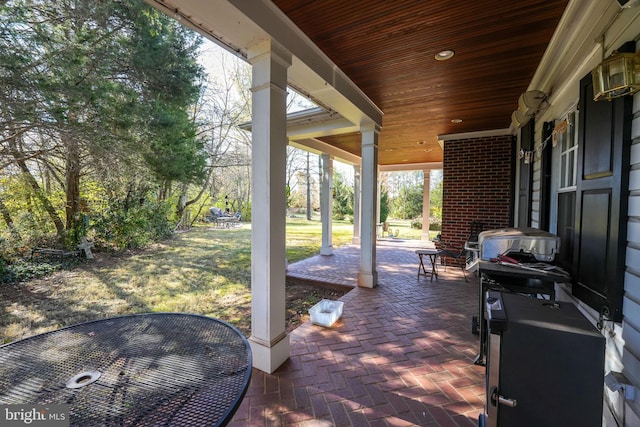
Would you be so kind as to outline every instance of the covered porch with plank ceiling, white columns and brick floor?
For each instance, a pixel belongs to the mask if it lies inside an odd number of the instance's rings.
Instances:
[[[252,210],[261,215],[252,217],[249,341],[265,373],[256,371],[237,421],[473,424],[483,401],[469,332],[477,285],[455,271],[418,281],[412,250],[406,262],[386,262],[376,244],[379,173],[399,166],[441,163],[448,245],[462,246],[470,221],[557,234],[558,263],[574,280],[556,284],[556,296],[607,342],[604,366],[585,375],[615,372],[637,388],[640,97],[627,95],[640,84],[617,90],[609,83],[624,73],[602,70],[626,54],[638,62],[638,1],[147,1],[252,66]],[[289,87],[326,117],[290,127]],[[282,171],[291,141],[321,152],[326,176],[332,157],[358,157],[360,246],[359,265],[344,275],[355,275],[357,287],[345,297],[343,322],[289,336]],[[330,201],[330,180],[324,185]],[[326,220],[322,243],[331,254]],[[640,425],[638,401],[601,386],[603,425]]]

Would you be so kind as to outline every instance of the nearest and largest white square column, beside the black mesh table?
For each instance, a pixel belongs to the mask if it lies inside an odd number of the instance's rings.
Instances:
[[[251,337],[254,367],[272,373],[290,355],[286,333],[285,166],[291,54],[267,41],[249,51],[253,81]]]

